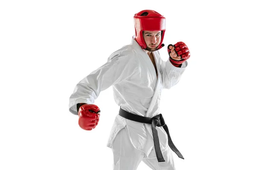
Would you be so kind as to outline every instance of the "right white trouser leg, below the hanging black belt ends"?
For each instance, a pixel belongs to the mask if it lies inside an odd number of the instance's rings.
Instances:
[[[167,148],[163,153],[164,162],[158,162],[157,156],[153,149],[148,156],[148,159],[143,159],[143,162],[148,165],[152,170],[175,170],[174,161],[172,157],[172,150],[170,147]]]

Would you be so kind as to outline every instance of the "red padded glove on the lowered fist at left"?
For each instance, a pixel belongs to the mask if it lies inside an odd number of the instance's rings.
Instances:
[[[94,129],[99,122],[99,107],[91,104],[81,105],[78,111],[78,124],[84,130]]]

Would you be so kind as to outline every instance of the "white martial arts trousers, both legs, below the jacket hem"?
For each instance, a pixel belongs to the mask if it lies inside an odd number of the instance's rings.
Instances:
[[[145,153],[137,150],[129,139],[127,127],[124,127],[118,132],[112,145],[113,151],[113,170],[137,170],[138,165],[143,161],[152,170],[175,170],[172,157],[172,150],[167,147],[167,150],[162,152],[164,162],[158,162],[157,156],[153,149],[146,158]]]

